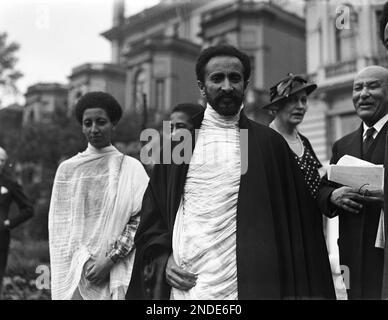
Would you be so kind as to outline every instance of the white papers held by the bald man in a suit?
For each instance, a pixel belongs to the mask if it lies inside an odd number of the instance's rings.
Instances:
[[[330,165],[327,178],[344,186],[360,190],[382,191],[384,189],[384,166],[376,165],[349,155],[343,156],[336,165]]]

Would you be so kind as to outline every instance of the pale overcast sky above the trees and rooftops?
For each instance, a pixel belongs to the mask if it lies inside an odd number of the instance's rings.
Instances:
[[[71,69],[80,64],[110,62],[110,43],[100,34],[112,26],[113,1],[0,0],[0,32],[20,44],[21,93],[37,82],[66,84]],[[126,0],[126,16],[158,2]]]

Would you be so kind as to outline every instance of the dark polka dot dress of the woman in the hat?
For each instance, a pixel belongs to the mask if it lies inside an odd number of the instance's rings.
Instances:
[[[302,140],[302,139],[301,139]],[[311,195],[316,198],[318,193],[318,187],[321,181],[318,169],[322,166],[318,159],[313,156],[312,151],[306,143],[302,140],[304,146],[304,152],[301,157],[295,154],[295,159],[298,162],[299,168],[302,170],[304,180],[310,190]]]

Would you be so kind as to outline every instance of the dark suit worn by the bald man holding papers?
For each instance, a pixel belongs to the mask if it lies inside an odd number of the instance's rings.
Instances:
[[[385,135],[388,122],[376,136],[366,155],[362,154],[362,125],[358,130],[338,140],[333,145],[331,163],[335,164],[348,154],[374,164],[384,163]],[[340,264],[349,268],[349,299],[380,299],[383,274],[383,250],[375,247],[381,208],[376,204],[364,204],[362,212],[352,214],[330,205],[332,191],[339,185],[323,179],[318,194],[322,213],[339,217]]]

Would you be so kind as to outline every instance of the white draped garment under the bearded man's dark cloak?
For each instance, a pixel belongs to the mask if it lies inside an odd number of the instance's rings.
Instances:
[[[198,274],[172,300],[233,300],[237,292],[236,213],[241,177],[240,114],[220,116],[207,106],[173,231],[177,264]]]

